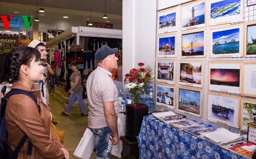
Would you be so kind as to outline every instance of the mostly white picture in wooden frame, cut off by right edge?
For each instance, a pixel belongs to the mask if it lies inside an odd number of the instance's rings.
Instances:
[[[242,62],[242,95],[256,97],[256,62]]]

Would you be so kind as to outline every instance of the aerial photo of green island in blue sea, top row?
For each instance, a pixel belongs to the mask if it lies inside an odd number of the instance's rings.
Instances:
[[[211,19],[240,15],[241,0],[217,1],[211,3]]]

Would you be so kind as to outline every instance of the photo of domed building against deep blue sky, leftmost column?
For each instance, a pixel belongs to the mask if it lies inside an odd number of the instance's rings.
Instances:
[[[175,54],[175,36],[159,38],[159,55]]]

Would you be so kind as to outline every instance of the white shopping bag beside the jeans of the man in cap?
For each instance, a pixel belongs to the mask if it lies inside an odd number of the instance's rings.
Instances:
[[[86,128],[85,133],[77,145],[74,155],[80,158],[88,159],[95,148],[94,134]]]

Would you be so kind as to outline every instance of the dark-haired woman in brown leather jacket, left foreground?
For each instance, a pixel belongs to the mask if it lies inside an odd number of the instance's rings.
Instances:
[[[43,79],[43,67],[40,62],[40,52],[31,47],[16,48],[8,53],[4,67],[4,75],[0,81],[12,83],[11,89],[27,91],[38,100],[40,113],[34,101],[23,94],[8,98],[6,105],[6,129],[8,145],[14,150],[21,138],[27,135],[32,143],[31,155],[27,155],[28,140],[18,153],[18,158],[68,158],[64,146],[51,136],[51,112],[44,104],[40,90],[33,90],[34,82]],[[3,72],[3,71],[0,71]],[[40,102],[41,101],[41,102]]]

